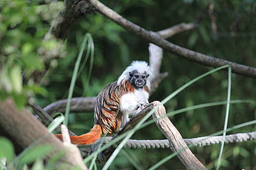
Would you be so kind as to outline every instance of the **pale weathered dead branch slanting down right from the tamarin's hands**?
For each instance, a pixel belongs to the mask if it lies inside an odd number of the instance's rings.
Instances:
[[[183,141],[181,134],[166,116],[165,107],[163,104],[161,104],[160,101],[154,101],[153,104],[154,107],[160,105],[156,112],[152,114],[156,125],[168,139],[172,151],[179,151],[178,158],[181,160],[181,162],[183,162],[183,165],[185,165],[187,169],[206,169],[190,151],[186,143]]]

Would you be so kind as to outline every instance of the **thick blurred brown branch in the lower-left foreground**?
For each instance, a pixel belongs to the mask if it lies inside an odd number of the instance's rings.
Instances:
[[[79,167],[86,169],[84,162],[73,159],[72,153],[62,145],[60,140],[49,133],[47,128],[36,120],[33,115],[25,109],[17,110],[12,99],[5,99],[0,102],[0,132],[6,134],[13,143],[19,145],[20,149],[25,149],[32,145],[35,141],[38,144],[47,143],[52,146],[52,152],[49,157],[54,157],[58,151],[65,150],[64,156],[60,158],[59,163],[55,169],[71,169],[72,167]],[[18,147],[18,146],[16,146]]]

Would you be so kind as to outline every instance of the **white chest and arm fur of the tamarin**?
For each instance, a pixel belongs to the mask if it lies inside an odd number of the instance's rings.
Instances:
[[[129,121],[129,116],[134,115],[141,110],[141,106],[148,104],[149,94],[142,88],[135,89],[134,93],[128,93],[121,96],[120,111],[123,112],[120,130],[124,128]]]

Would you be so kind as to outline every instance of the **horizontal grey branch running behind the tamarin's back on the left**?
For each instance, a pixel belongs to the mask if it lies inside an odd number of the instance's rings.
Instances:
[[[74,97],[70,102],[70,112],[91,112],[94,109],[96,97]],[[48,114],[65,112],[67,99],[62,99],[49,104],[43,110]]]

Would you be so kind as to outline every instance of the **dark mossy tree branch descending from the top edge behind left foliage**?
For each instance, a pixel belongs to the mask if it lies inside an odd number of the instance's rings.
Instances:
[[[63,42],[67,38],[69,29],[73,26],[76,19],[93,12],[94,8],[85,0],[65,0],[64,8],[60,10],[55,17],[54,21],[51,23],[49,32],[45,35],[44,42],[53,40],[56,42],[54,48],[48,49],[47,47],[40,47],[38,54],[44,60],[45,69],[43,71],[34,71],[30,77],[34,79],[34,82],[38,84],[47,70],[49,69],[50,61],[54,58],[60,56],[60,51]]]

